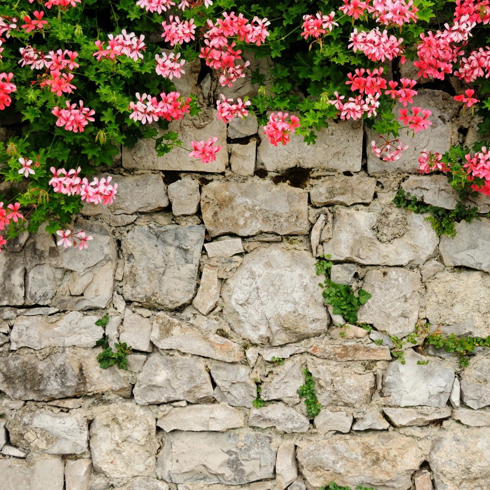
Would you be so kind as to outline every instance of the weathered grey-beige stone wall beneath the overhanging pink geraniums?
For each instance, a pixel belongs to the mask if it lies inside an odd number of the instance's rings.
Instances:
[[[274,148],[253,117],[226,128],[208,109],[172,124],[184,142],[217,135],[217,161],[123,148],[117,200],[86,205],[75,223],[94,236],[88,250],[43,232],[10,241],[0,254],[2,487],[488,489],[488,352],[467,368],[411,343],[405,364],[390,353],[389,336],[417,322],[490,335],[490,220],[439,239],[392,204],[402,186],[453,208],[444,177],[417,175],[417,152],[474,134],[447,94],[418,98],[434,124],[395,164],[363,148],[357,121],[331,123],[316,146],[293,137]],[[369,334],[323,304],[322,253],[333,280],[372,294],[359,310]],[[98,367],[104,330],[133,347],[127,371]],[[297,394],[305,369],[322,406],[312,419]]]

